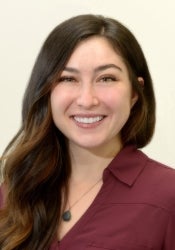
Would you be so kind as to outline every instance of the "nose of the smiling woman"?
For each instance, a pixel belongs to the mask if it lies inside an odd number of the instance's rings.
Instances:
[[[77,97],[77,105],[86,109],[99,104],[99,99],[94,87],[91,84],[82,85]]]

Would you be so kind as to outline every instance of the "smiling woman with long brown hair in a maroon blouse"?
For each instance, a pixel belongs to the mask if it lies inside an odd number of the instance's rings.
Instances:
[[[175,249],[175,171],[138,150],[154,126],[133,34],[95,15],[58,25],[1,161],[1,249]]]

